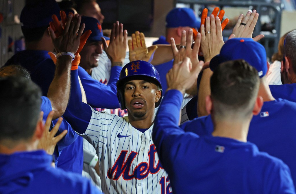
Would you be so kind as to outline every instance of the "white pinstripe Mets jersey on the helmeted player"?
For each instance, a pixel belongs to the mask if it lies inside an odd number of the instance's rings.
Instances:
[[[168,194],[168,174],[161,166],[152,141],[153,125],[141,133],[128,117],[92,109],[91,120],[82,135],[99,157],[102,191],[105,194]]]

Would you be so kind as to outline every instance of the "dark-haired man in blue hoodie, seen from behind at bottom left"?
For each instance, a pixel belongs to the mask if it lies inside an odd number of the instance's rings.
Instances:
[[[102,193],[81,175],[51,167],[52,156],[38,150],[50,125],[42,123],[40,88],[9,76],[0,79],[0,91],[0,193]]]

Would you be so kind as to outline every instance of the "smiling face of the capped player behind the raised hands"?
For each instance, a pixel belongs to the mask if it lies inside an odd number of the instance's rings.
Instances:
[[[91,69],[98,66],[100,54],[102,54],[102,41],[86,41],[80,52],[81,67]]]

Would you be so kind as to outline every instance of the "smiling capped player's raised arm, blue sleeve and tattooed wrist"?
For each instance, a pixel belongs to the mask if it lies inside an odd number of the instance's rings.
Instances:
[[[111,60],[110,80],[107,85],[91,78],[82,68],[78,73],[86,93],[87,103],[92,107],[119,108],[117,99],[116,82],[126,57],[127,31],[123,31],[123,25],[116,22],[113,24],[109,46],[102,38],[107,56]]]

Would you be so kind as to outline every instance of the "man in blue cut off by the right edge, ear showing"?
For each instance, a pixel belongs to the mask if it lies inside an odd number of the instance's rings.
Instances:
[[[288,33],[284,42],[284,57],[281,66],[281,80],[283,85],[269,85],[275,98],[283,98],[296,102],[296,71],[295,71],[295,41],[296,30]]]

